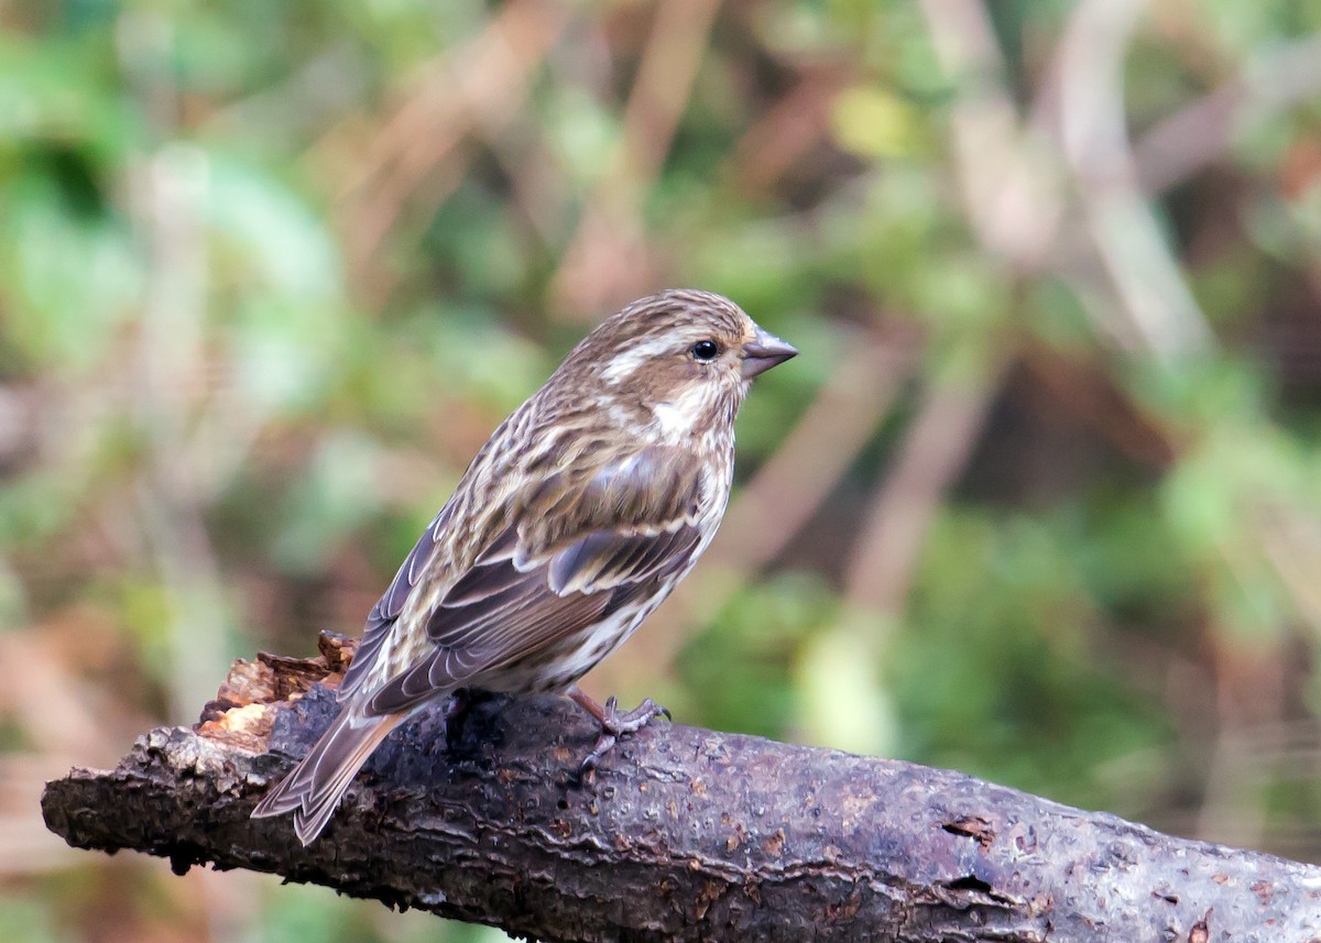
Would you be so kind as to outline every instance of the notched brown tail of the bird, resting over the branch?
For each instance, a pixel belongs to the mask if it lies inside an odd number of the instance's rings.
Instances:
[[[308,755],[258,803],[252,818],[293,812],[299,841],[312,844],[330,821],[353,777],[406,716],[366,716],[358,705],[346,704]]]

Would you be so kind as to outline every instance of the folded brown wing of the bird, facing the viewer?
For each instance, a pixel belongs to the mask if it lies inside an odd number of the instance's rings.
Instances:
[[[437,602],[427,622],[435,650],[367,709],[407,711],[654,593],[700,547],[701,506],[701,464],[674,446],[606,465],[580,486],[552,477]]]

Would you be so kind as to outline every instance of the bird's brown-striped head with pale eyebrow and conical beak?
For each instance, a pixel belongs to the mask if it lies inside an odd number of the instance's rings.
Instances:
[[[752,379],[795,354],[729,298],[671,289],[602,321],[564,367],[625,421],[682,442],[727,429]]]

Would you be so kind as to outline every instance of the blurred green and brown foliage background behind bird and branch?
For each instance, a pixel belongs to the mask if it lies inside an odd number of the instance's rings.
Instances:
[[[7,940],[494,940],[66,849],[602,316],[803,355],[585,687],[1321,861],[1321,4],[0,0]]]

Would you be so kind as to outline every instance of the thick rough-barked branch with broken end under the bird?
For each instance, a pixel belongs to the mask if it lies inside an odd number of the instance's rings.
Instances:
[[[543,940],[1321,943],[1321,868],[678,724],[580,781],[597,732],[556,699],[478,701],[449,737],[408,724],[304,849],[248,812],[333,717],[347,658],[326,637],[318,659],[238,662],[197,728],[49,783],[46,824],[180,872],[275,872]]]

